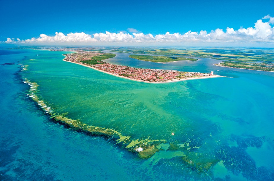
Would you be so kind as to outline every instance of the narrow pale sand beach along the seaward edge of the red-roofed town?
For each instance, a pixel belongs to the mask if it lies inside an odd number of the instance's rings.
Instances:
[[[144,80],[136,80],[136,79],[132,79],[132,78],[129,78],[129,77],[123,77],[123,76],[116,75],[116,74],[113,74],[113,73],[110,73],[110,72],[106,72],[106,71],[103,71],[103,70],[96,69],[95,67],[88,66],[88,65],[85,65],[85,64],[80,64],[80,63],[77,63],[77,62],[67,61],[67,60],[65,60],[67,56],[66,55],[64,55],[64,56],[65,56],[65,58],[63,59],[63,61],[65,61],[65,62],[70,62],[70,63],[82,65],[82,66],[85,66],[85,67],[89,67],[89,68],[92,68],[92,69],[97,70],[99,72],[107,73],[109,75],[113,75],[113,76],[116,76],[116,77],[120,77],[120,78],[124,78],[124,79],[128,79],[128,80],[134,80],[134,81],[138,81],[138,82],[151,83],[151,84],[161,84],[161,83],[180,82],[180,81],[185,81],[185,80],[225,77],[225,76],[221,76],[221,75],[213,75],[213,76],[207,76],[207,77],[191,77],[191,78],[186,78],[186,79],[168,80],[168,81],[165,81],[165,82],[164,81],[163,82],[148,82],[148,81],[144,81]]]

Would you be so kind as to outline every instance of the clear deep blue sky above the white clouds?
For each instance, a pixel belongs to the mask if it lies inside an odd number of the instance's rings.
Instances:
[[[1,1],[0,41],[55,32],[157,34],[238,30],[270,14],[274,1]],[[267,20],[263,20],[267,21]]]

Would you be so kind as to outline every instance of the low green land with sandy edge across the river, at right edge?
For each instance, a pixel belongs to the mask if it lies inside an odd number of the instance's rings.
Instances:
[[[273,71],[274,72],[274,63],[262,62],[262,63],[247,63],[247,62],[222,62],[220,64],[226,67],[232,68],[243,68],[243,69],[250,69],[250,70],[262,70],[262,71]]]

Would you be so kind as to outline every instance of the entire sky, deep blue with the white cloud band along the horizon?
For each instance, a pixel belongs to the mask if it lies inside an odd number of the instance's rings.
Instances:
[[[0,41],[273,46],[273,7],[274,0],[0,0]]]

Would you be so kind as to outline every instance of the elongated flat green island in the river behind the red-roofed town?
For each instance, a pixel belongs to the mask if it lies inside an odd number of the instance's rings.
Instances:
[[[174,62],[179,60],[196,61],[198,59],[191,59],[185,57],[169,57],[169,56],[151,56],[151,55],[129,55],[130,58],[149,61],[149,62]]]

